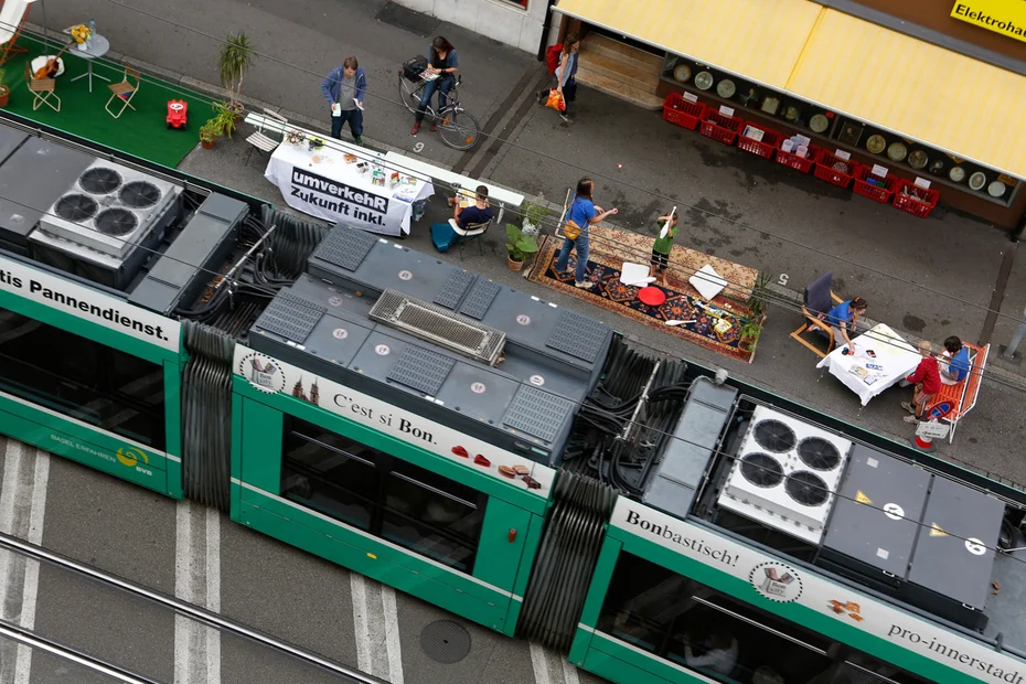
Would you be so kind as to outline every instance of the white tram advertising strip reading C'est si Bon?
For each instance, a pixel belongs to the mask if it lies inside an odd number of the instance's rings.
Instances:
[[[391,353],[381,346],[380,354]],[[552,491],[556,473],[552,468],[242,344],[235,345],[234,370],[260,392],[303,399],[533,494],[547,499]]]

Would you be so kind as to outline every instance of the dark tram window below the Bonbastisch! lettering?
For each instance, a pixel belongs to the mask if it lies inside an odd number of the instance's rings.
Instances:
[[[626,552],[598,629],[720,682],[925,684],[866,654],[845,656],[842,644]]]

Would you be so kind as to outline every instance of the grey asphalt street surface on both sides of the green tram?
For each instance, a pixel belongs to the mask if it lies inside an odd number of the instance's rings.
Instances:
[[[985,332],[984,309],[994,297],[1005,250],[1012,248],[1002,233],[985,224],[953,213],[916,220],[723,148],[655,114],[586,88],[580,92],[577,122],[567,127],[552,111],[531,106],[527,88],[515,93],[515,84],[537,68],[531,55],[427,20],[412,20],[423,29],[419,32],[396,28],[376,19],[381,14],[392,21],[394,17],[380,0],[183,0],[173,4],[132,0],[131,6],[212,35],[246,30],[267,56],[257,60],[244,90],[272,106],[327,122],[319,82],[343,56],[356,54],[368,71],[375,95],[365,133],[371,140],[406,150],[424,142],[416,153],[436,163],[480,168],[495,182],[548,200],[562,200],[577,178],[592,174],[601,203],[619,206],[618,223],[639,231],[651,232],[652,218],[674,204],[692,205],[682,214],[681,241],[688,246],[760,268],[773,280],[787,276],[792,289],[833,269],[836,289],[867,298],[872,318],[921,336],[941,340],[954,333],[976,341]],[[212,39],[110,0],[49,0],[46,11],[50,25],[61,28],[92,15],[119,53],[186,79],[216,81]],[[34,13],[33,21],[41,23],[41,14]],[[493,115],[501,118],[495,130],[509,142],[489,153],[479,150],[468,159],[426,132],[409,136],[410,117],[392,101],[395,70],[404,58],[425,52],[427,29],[443,32],[457,45],[463,64],[464,104],[482,121]],[[516,98],[509,103],[511,93]],[[213,151],[197,149],[181,168],[280,204],[277,190],[263,179],[260,157],[254,154],[245,164],[248,149],[241,138],[218,141]],[[427,224],[443,213],[434,204],[415,228],[409,246],[430,252]],[[755,363],[741,364],[524,280],[502,266],[503,242],[501,236],[485,238],[484,256],[478,256],[477,248],[468,249],[463,265],[608,321],[645,344],[722,365],[739,377],[895,439],[909,436],[897,407],[905,398],[901,392],[889,391],[862,408],[833,377],[815,371],[816,360],[788,338],[800,323],[793,310],[770,309]],[[998,297],[1006,317],[1022,313],[1026,306],[1024,257],[1013,257],[1007,285]],[[440,258],[460,261],[459,253]],[[1004,342],[1014,328],[1011,319],[998,317],[992,341]],[[1006,367],[1023,370],[1014,364]],[[941,445],[940,453],[1026,482],[1023,391],[1007,382],[994,377],[985,383],[954,445]],[[351,576],[199,506],[174,504],[34,449],[11,443],[3,449],[0,525],[4,531],[220,610],[327,658],[393,682],[597,681],[564,667],[558,658],[525,642]],[[221,639],[213,648],[202,633],[175,624],[173,617],[97,588],[75,586],[51,571],[40,571],[35,588],[28,591],[26,575],[31,579],[32,573],[22,569],[17,581],[3,585],[4,617],[24,619],[31,608],[38,628],[49,630],[44,633],[118,664],[163,681],[205,682],[215,675],[232,682],[287,681],[281,670],[287,664],[236,644],[232,638]],[[436,662],[421,648],[423,630],[439,620],[456,620],[470,635],[470,651],[451,665]],[[2,661],[10,666],[9,659]],[[178,672],[175,663],[180,663]],[[40,656],[33,660],[31,681],[87,681],[62,667]],[[8,681],[4,674],[0,671],[0,681]]]

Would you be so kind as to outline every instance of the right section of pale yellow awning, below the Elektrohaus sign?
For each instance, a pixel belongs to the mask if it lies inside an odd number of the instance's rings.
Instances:
[[[824,9],[787,89],[1026,178],[1024,76]]]

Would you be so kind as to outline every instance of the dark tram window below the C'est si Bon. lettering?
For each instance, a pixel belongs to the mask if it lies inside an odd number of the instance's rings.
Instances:
[[[286,416],[281,495],[464,573],[488,496]]]

